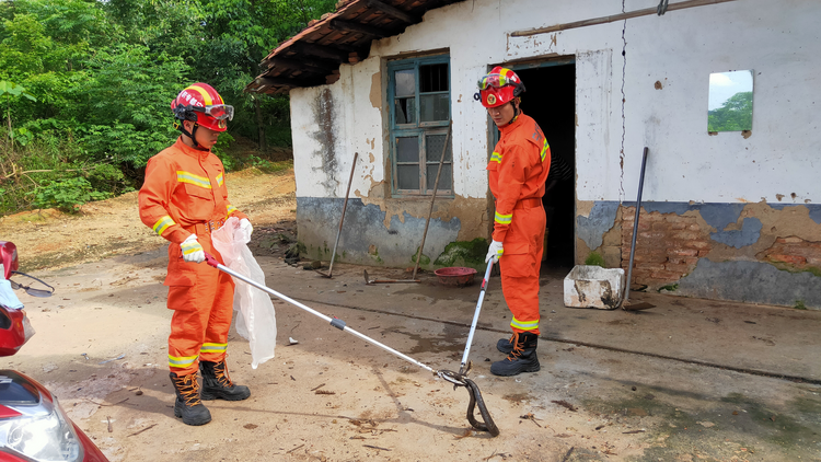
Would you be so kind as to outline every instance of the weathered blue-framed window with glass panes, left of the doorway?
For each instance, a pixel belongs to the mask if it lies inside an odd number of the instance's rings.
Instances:
[[[388,63],[393,195],[430,195],[450,125],[450,57]],[[448,142],[437,196],[453,195],[452,142]]]

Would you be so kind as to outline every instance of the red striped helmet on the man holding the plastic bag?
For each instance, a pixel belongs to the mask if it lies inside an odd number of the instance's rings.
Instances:
[[[171,111],[180,120],[192,120],[215,131],[226,131],[234,118],[234,107],[222,101],[222,96],[208,83],[194,83],[181,91],[171,102]]]

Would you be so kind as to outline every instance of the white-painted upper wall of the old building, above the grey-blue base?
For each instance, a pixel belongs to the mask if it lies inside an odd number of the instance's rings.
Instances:
[[[657,4],[629,0],[624,11]],[[579,200],[633,200],[645,146],[645,200],[821,199],[821,2],[738,0],[554,34],[509,35],[622,11],[621,2],[605,0],[472,0],[433,10],[405,33],[374,42],[367,60],[342,67],[338,82],[291,91],[297,196],[343,197],[358,151],[351,192],[368,200],[374,184],[389,177],[384,61],[448,50],[458,196],[487,194],[488,120],[473,100],[477,78],[488,65],[569,55],[577,69]],[[754,70],[752,135],[708,136],[709,73],[743,69]],[[654,88],[656,81],[662,90]],[[336,108],[337,161],[327,164],[316,155],[326,150],[316,141],[323,92]],[[335,181],[328,182],[328,173]]]

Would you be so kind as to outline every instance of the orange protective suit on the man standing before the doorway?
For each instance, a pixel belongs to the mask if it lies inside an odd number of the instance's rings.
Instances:
[[[487,164],[496,198],[494,241],[501,291],[513,314],[513,332],[539,334],[539,269],[544,245],[544,182],[551,170],[551,147],[533,118],[520,113],[500,127],[501,138]]]

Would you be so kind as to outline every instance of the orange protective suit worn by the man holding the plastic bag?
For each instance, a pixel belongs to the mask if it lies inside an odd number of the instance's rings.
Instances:
[[[167,307],[174,310],[169,368],[180,377],[195,373],[200,358],[219,362],[226,357],[234,282],[217,268],[185,262],[180,243],[196,234],[203,250],[223,263],[211,244],[211,231],[228,217],[247,217],[228,201],[219,158],[190,148],[182,139],[149,159],[139,208],[142,222],[171,241],[164,282],[169,286]]]

